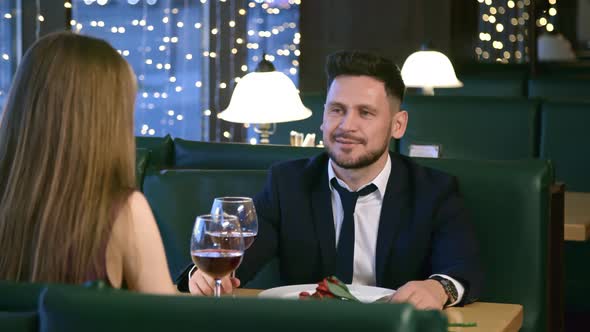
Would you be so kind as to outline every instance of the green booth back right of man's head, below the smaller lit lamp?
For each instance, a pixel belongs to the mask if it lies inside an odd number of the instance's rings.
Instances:
[[[441,157],[514,160],[538,155],[538,103],[523,98],[412,96],[400,153],[439,145]]]

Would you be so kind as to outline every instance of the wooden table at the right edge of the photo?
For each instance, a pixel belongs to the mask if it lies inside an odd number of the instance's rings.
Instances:
[[[565,192],[563,238],[587,241],[590,238],[590,193]]]

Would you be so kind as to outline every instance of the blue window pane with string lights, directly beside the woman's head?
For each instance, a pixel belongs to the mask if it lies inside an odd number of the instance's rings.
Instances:
[[[209,95],[199,57],[207,48],[207,7],[198,1],[74,1],[75,29],[108,40],[135,71],[136,135],[201,139],[199,110]]]

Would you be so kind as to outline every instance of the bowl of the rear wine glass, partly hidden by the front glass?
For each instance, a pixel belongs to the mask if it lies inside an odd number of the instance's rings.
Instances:
[[[258,217],[250,197],[217,197],[213,200],[211,214],[229,214],[238,217],[244,237],[244,250],[250,248],[258,235]]]

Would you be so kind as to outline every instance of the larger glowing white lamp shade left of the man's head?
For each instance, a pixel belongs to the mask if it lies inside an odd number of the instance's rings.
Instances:
[[[311,110],[303,106],[293,81],[277,71],[242,77],[229,106],[219,113],[220,119],[238,123],[279,123],[310,116]]]

